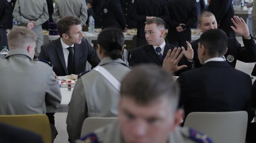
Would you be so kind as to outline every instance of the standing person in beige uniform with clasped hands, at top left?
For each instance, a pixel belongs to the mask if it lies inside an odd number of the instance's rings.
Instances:
[[[38,57],[43,45],[42,24],[49,19],[46,0],[17,0],[12,16],[34,31],[36,40],[35,56]]]

